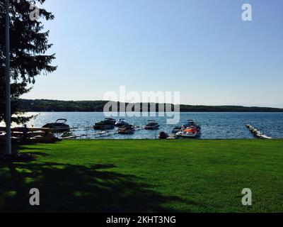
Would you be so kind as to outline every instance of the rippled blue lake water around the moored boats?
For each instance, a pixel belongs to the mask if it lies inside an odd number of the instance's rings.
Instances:
[[[57,118],[67,118],[67,123],[71,127],[82,127],[72,131],[75,135],[84,133],[94,133],[93,129],[86,129],[86,126],[93,126],[94,123],[105,118],[103,113],[28,113],[38,114],[37,118],[28,123],[28,126],[41,127],[45,123],[56,121]],[[120,117],[116,118],[117,121]],[[174,125],[166,124],[166,117],[121,117],[126,118],[128,123],[134,126],[144,126],[149,119],[154,119],[160,124],[157,131],[140,130],[133,135],[109,135],[103,138],[149,138],[157,137],[159,131],[166,131],[171,134]],[[192,119],[202,126],[202,139],[209,138],[253,138],[253,135],[246,128],[246,123],[250,123],[272,138],[283,138],[283,113],[180,113],[180,123],[186,123],[187,119]],[[98,135],[88,136],[88,138],[100,138]]]

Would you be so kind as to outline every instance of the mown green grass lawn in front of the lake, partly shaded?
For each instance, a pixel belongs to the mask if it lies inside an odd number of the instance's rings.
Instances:
[[[283,140],[69,140],[0,164],[0,211],[283,212]],[[40,189],[40,206],[29,190]],[[253,206],[241,204],[243,188]]]

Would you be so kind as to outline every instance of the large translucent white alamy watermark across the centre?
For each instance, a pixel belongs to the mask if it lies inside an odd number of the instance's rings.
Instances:
[[[167,124],[180,121],[180,92],[126,92],[126,87],[120,86],[119,94],[106,92],[103,99],[112,100],[103,108],[105,116],[158,115],[166,116]]]

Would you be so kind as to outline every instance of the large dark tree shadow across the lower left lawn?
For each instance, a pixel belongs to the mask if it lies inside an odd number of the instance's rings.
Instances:
[[[110,164],[2,163],[0,211],[175,212],[164,205],[194,204],[158,194],[139,177],[114,170]],[[31,188],[40,190],[40,206],[30,206]]]

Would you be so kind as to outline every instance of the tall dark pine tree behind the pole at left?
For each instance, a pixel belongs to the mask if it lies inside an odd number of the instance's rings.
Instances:
[[[50,65],[55,55],[46,55],[52,44],[48,43],[50,31],[44,31],[42,21],[54,19],[54,15],[40,6],[45,0],[10,0],[10,57],[11,57],[11,114],[12,121],[25,123],[17,100],[30,91],[40,74],[54,72]],[[30,19],[30,5],[35,4],[39,18]],[[0,122],[5,118],[5,0],[0,1]]]

